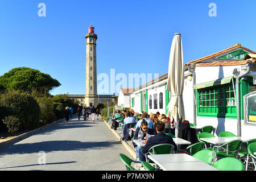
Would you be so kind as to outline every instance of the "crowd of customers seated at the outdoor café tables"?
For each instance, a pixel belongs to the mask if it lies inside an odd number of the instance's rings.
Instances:
[[[136,150],[138,151],[138,156],[140,161],[145,161],[146,153],[149,148],[161,143],[170,143],[177,150],[177,146],[172,139],[172,137],[166,135],[165,133],[170,133],[174,135],[174,119],[170,119],[166,114],[160,114],[159,112],[146,113],[142,114],[134,113],[133,109],[130,111],[123,110],[122,113],[120,110],[116,111],[114,118],[112,119],[112,129],[116,130],[119,126],[117,119],[122,118],[124,126],[122,127],[122,140],[127,139],[127,135],[130,130],[130,127],[135,128],[133,133],[134,139],[138,139],[140,135],[141,139],[146,139],[147,143],[144,147],[139,147],[134,144]],[[147,134],[154,135],[154,137],[147,137]]]

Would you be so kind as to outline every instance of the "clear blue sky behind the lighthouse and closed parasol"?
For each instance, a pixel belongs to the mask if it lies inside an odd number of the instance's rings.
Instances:
[[[216,17],[208,14],[212,2]],[[46,17],[38,16],[39,3],[45,3]],[[256,51],[255,7],[254,0],[1,0],[0,76],[30,67],[59,80],[53,95],[85,94],[84,37],[90,23],[98,35],[97,75],[106,73],[109,79],[110,69],[127,77],[167,73],[176,32],[184,63],[236,43]]]

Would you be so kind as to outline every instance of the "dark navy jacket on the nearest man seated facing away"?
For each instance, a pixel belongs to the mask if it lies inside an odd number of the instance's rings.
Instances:
[[[159,132],[154,137],[148,138],[147,143],[142,149],[142,152],[146,154],[152,146],[155,146],[156,144],[162,144],[162,143],[170,143],[174,146],[174,150],[177,150],[177,146],[174,140],[172,139],[172,137],[167,136],[163,132]]]

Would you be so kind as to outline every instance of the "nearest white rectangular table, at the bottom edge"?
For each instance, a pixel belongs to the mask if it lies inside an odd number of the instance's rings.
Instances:
[[[147,157],[164,171],[219,171],[188,154],[158,154]]]

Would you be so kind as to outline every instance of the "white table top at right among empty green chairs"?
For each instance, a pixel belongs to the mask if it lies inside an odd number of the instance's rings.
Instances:
[[[212,137],[212,138],[200,138],[204,142],[209,142],[213,144],[223,144],[226,142],[230,142],[232,140],[242,140],[243,142],[247,142],[253,139],[253,137]]]

